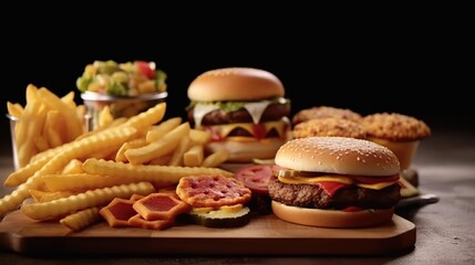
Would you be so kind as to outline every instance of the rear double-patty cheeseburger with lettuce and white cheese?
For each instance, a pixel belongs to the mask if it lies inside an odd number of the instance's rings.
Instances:
[[[208,152],[229,151],[227,162],[272,159],[289,138],[290,102],[283,96],[282,83],[267,71],[211,70],[188,87],[188,120],[211,132]]]

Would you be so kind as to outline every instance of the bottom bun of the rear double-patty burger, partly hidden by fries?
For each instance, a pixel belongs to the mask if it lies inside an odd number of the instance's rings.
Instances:
[[[229,151],[227,162],[252,162],[252,159],[273,159],[277,150],[285,142],[280,138],[266,138],[262,140],[233,140],[211,141],[206,146],[207,152],[220,149]]]

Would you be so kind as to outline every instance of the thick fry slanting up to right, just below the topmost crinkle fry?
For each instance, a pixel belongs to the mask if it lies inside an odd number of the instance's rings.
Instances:
[[[189,130],[189,123],[183,123],[157,141],[151,142],[144,147],[126,150],[125,157],[131,163],[141,165],[156,157],[166,156],[175,150],[179,140],[185,137]]]

